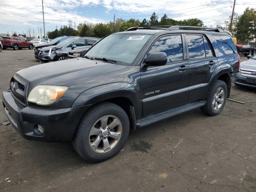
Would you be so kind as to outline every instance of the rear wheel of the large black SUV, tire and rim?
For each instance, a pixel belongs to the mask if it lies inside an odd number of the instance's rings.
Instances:
[[[201,110],[210,116],[218,115],[226,104],[227,96],[228,88],[226,83],[221,80],[216,80],[210,90],[208,98],[206,99],[206,104],[201,107]],[[223,100],[222,103],[221,100]]]

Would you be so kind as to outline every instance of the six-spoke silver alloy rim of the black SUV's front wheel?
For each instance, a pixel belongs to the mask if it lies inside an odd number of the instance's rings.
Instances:
[[[113,115],[97,120],[89,133],[90,148],[97,153],[105,153],[116,146],[122,135],[122,123]]]

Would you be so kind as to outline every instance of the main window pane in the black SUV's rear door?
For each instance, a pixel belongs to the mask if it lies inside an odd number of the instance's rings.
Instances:
[[[186,35],[190,59],[204,58],[204,41],[201,35]]]

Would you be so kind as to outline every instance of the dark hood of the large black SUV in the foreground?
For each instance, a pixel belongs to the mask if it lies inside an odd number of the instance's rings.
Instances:
[[[30,82],[31,89],[39,84],[64,85],[90,76],[122,70],[126,67],[98,60],[78,58],[39,64],[21,70],[18,75]]]

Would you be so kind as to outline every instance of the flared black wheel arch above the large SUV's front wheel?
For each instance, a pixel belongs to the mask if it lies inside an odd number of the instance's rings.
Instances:
[[[104,84],[90,88],[76,98],[72,107],[94,105],[117,97],[129,99],[134,107],[135,115],[137,116],[139,114],[141,109],[140,93],[136,91],[134,86],[126,82]]]

